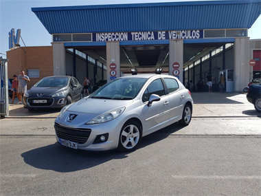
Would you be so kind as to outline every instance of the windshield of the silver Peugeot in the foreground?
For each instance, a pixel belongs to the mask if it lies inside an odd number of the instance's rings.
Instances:
[[[131,100],[137,96],[147,78],[119,78],[100,87],[91,98]]]

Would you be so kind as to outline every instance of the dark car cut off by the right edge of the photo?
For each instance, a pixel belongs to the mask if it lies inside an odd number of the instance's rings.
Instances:
[[[247,100],[254,105],[256,111],[261,112],[261,84],[253,83],[249,85]]]

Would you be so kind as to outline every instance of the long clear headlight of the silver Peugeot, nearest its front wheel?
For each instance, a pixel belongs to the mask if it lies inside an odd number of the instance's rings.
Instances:
[[[124,112],[124,109],[125,107],[122,107],[119,109],[115,109],[113,111],[102,113],[101,115],[96,116],[86,124],[98,124],[98,123],[108,122],[120,116]]]

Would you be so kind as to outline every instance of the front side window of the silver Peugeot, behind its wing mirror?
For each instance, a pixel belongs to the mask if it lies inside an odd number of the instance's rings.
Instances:
[[[148,101],[148,99],[152,94],[156,94],[158,96],[163,96],[165,94],[161,79],[154,80],[152,81],[152,83],[150,83],[150,85],[148,85],[148,88],[146,89],[146,91],[142,96],[142,101],[143,102]]]

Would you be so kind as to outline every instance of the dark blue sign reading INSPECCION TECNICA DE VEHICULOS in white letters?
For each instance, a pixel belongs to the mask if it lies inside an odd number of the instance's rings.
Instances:
[[[202,38],[203,38],[203,30],[93,33],[93,41],[148,41],[148,40],[202,39]]]

